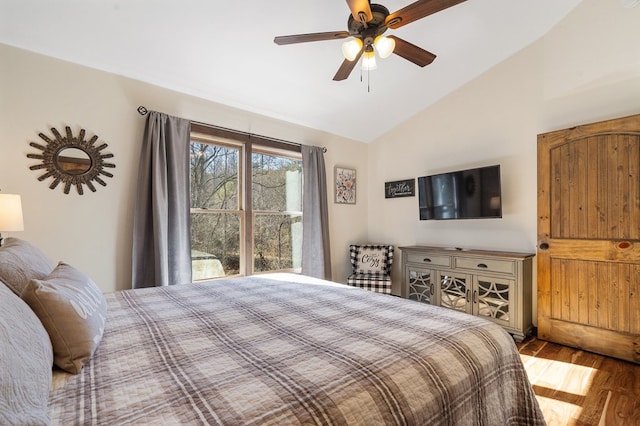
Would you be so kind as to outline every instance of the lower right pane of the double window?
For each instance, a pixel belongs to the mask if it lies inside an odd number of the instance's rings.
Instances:
[[[254,271],[299,269],[302,261],[302,215],[254,216]]]

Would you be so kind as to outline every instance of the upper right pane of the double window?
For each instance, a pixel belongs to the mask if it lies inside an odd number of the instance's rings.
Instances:
[[[254,153],[251,165],[253,210],[302,211],[302,161]]]

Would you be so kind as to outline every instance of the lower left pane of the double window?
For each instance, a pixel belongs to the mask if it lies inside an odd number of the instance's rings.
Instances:
[[[193,280],[240,273],[241,213],[191,213]]]

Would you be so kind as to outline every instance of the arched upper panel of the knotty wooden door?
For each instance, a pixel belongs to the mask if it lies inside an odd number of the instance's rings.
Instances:
[[[551,149],[552,238],[635,239],[638,137],[581,138]]]

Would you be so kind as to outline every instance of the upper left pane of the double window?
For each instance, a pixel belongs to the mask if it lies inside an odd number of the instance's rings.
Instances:
[[[191,207],[239,210],[239,150],[191,142]]]

